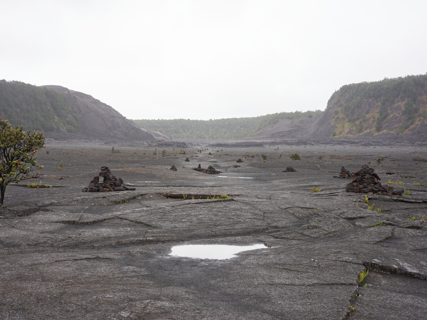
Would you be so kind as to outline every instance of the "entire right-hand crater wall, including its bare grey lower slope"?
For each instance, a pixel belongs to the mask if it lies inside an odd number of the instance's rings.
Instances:
[[[299,122],[283,120],[253,136],[325,139],[379,134],[424,137],[427,133],[427,74],[362,82],[335,91],[326,110]]]

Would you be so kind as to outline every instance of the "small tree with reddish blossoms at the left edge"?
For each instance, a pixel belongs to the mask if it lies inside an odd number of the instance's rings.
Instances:
[[[0,119],[0,205],[3,207],[5,191],[9,183],[35,178],[33,169],[37,165],[35,153],[43,148],[45,139],[42,132],[24,132],[22,125],[12,128],[8,120]]]

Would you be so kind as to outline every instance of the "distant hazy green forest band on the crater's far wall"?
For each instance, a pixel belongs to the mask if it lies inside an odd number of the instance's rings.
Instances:
[[[322,111],[306,112],[281,112],[267,114],[259,117],[248,118],[228,118],[215,120],[190,120],[190,119],[173,119],[173,120],[133,120],[138,126],[158,131],[174,139],[238,139],[247,138],[256,134],[265,127],[271,127],[276,123],[289,120],[302,120],[311,117],[318,117]]]

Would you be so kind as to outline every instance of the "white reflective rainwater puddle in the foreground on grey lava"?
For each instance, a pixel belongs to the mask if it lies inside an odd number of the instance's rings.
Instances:
[[[172,247],[169,255],[176,257],[225,260],[237,257],[235,254],[255,249],[267,248],[264,244],[224,245],[224,244],[189,244]]]

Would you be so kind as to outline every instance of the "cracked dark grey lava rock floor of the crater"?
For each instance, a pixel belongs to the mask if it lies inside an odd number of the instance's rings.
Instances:
[[[425,150],[229,148],[213,159],[195,149],[160,158],[148,148],[120,146],[120,154],[110,149],[47,146],[49,154],[39,154],[42,183],[62,187],[8,186],[0,210],[0,318],[341,320],[427,314],[427,203],[421,201],[427,189],[413,185],[427,179],[412,161],[425,157]],[[300,161],[285,156],[295,152]],[[248,153],[266,154],[268,162],[245,158]],[[222,173],[192,170],[194,163],[184,162],[191,155],[198,155],[202,168],[215,161]],[[416,180],[399,177],[410,196],[368,195],[367,204],[365,195],[346,193],[346,181],[333,178],[342,166],[356,171],[378,155],[385,157],[381,168],[374,166],[381,177],[387,170],[404,177],[417,172]],[[387,161],[388,155],[394,160]],[[238,157],[245,160],[235,168]],[[57,167],[61,161],[64,170]],[[136,190],[82,194],[103,165]],[[290,165],[297,172],[282,173]],[[313,186],[320,191],[310,192]],[[230,197],[184,200],[168,194]],[[372,227],[378,222],[385,225]],[[257,243],[267,248],[228,260],[169,255],[176,245]]]

